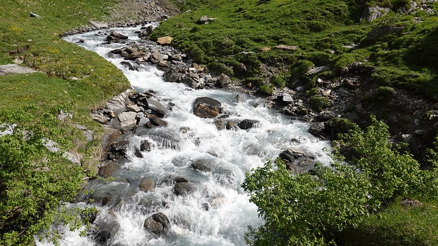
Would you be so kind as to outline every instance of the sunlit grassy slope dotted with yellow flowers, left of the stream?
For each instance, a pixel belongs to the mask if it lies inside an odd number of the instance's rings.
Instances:
[[[66,105],[72,108],[70,122],[88,126],[99,138],[102,130],[90,120],[90,109],[124,90],[129,82],[105,59],[64,42],[59,35],[87,25],[88,20],[103,20],[115,4],[115,0],[3,1],[0,5],[0,64],[9,64],[12,59],[19,58],[24,61],[23,66],[42,73],[0,77],[1,109],[36,105],[38,110],[30,113],[38,118],[53,107]],[[31,18],[29,12],[42,18]],[[79,80],[71,80],[73,77]],[[84,140],[83,134],[75,134],[71,124],[59,127],[69,134],[57,137]],[[98,154],[99,141],[93,141],[79,152]]]

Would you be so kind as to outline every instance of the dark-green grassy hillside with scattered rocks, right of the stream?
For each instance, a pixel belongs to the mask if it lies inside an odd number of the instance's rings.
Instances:
[[[377,4],[393,6],[393,11],[373,23],[361,23],[365,4],[375,2],[177,1],[181,12],[190,11],[162,23],[153,38],[170,35],[175,38],[175,45],[191,53],[196,61],[238,77],[248,76],[248,72],[240,72],[239,62],[251,66],[242,55],[236,55],[241,51],[255,52],[259,61],[279,67],[294,66],[296,61],[306,59],[315,66],[331,64],[336,70],[353,61],[367,61],[365,64],[377,66],[373,74],[377,81],[415,88],[435,97],[438,63],[434,54],[438,44],[433,40],[437,37],[437,15],[423,10],[400,14],[402,1],[385,1]],[[438,10],[437,3],[429,6]],[[196,24],[203,15],[217,20],[208,25]],[[417,19],[422,22],[414,21]],[[365,44],[367,33],[378,25],[402,25],[404,29]],[[359,43],[362,44],[357,49],[345,47]],[[262,46],[278,44],[298,45],[298,50],[259,51]],[[232,70],[227,70],[230,67]]]

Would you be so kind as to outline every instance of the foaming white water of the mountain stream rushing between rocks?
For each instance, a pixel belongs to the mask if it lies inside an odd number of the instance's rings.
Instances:
[[[133,31],[138,28],[113,28],[140,42]],[[138,158],[131,149],[127,161],[114,180],[93,180],[88,189],[95,193],[118,191],[118,203],[98,206],[96,221],[109,216],[120,224],[109,245],[245,245],[244,233],[249,225],[257,227],[263,220],[257,207],[248,202],[248,195],[240,188],[245,173],[260,167],[266,159],[275,159],[282,150],[291,146],[313,154],[322,163],[330,158],[324,152],[329,147],[307,133],[309,124],[291,121],[287,116],[263,107],[265,100],[240,92],[227,90],[192,90],[181,83],[168,83],[163,72],[155,66],[142,66],[140,71],[128,70],[120,65],[121,58],[108,58],[109,51],[123,44],[103,44],[106,36],[82,33],[66,37],[68,42],[85,42],[78,45],[94,51],[123,70],[138,92],[153,90],[164,105],[175,104],[164,120],[168,126],[153,128],[146,135],[131,137],[131,146],[148,139],[151,151]],[[244,100],[237,102],[237,94]],[[209,96],[222,102],[229,120],[258,120],[259,126],[249,130],[218,131],[211,119],[198,118],[192,113],[195,98]],[[227,119],[227,120],[228,120]],[[181,128],[185,129],[181,131]],[[194,170],[191,163],[207,160],[214,168],[211,172]],[[172,192],[168,177],[184,177],[196,186],[196,191],[185,196]],[[151,178],[156,187],[152,192],[138,189],[140,180]],[[121,202],[120,202],[121,201]],[[147,204],[147,205],[145,205]],[[85,206],[71,204],[70,206]],[[144,219],[153,213],[164,213],[171,221],[165,236],[149,234],[143,228]],[[64,230],[64,229],[60,229]],[[79,232],[66,232],[62,245],[96,245],[92,236],[80,237]],[[38,242],[38,245],[49,245]]]

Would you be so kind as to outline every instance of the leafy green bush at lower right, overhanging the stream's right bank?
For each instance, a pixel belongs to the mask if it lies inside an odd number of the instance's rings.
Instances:
[[[396,197],[437,200],[437,170],[421,170],[411,155],[394,149],[383,122],[372,118],[365,131],[355,128],[339,138],[333,144],[335,160],[344,159],[342,149],[354,157],[331,167],[315,165],[317,176],[292,175],[281,161],[275,168],[268,161],[246,174],[242,187],[266,219],[263,226],[249,228],[248,245],[336,245],[344,243],[346,232],[365,225],[370,213],[385,216],[378,212]]]

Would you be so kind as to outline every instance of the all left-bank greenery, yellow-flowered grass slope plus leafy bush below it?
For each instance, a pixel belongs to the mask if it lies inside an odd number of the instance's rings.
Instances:
[[[34,235],[54,219],[73,222],[73,228],[80,224],[79,217],[59,206],[75,197],[86,176],[96,175],[103,129],[90,111],[129,87],[129,81],[105,59],[60,35],[88,20],[107,18],[116,3],[1,1],[0,64],[22,61],[40,72],[0,76],[0,131],[14,126],[14,133],[0,137],[0,245],[33,245]],[[72,118],[57,120],[61,111]],[[94,131],[94,140],[87,143],[73,124]],[[43,146],[47,139],[85,156],[81,166],[48,152]]]

